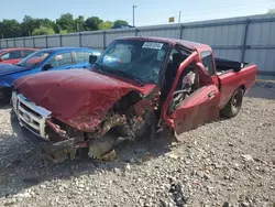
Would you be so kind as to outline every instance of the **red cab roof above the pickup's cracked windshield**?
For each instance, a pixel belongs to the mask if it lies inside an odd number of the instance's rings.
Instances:
[[[210,46],[207,44],[196,43],[191,41],[178,40],[178,39],[168,39],[168,37],[156,37],[156,36],[123,36],[117,40],[139,40],[139,41],[155,41],[155,42],[165,42],[169,45],[179,44],[189,50],[209,50]]]

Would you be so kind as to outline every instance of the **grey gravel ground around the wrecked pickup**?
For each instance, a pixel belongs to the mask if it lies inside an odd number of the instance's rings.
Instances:
[[[114,162],[52,164],[0,109],[0,206],[275,206],[275,85],[257,83],[238,117],[123,144]]]

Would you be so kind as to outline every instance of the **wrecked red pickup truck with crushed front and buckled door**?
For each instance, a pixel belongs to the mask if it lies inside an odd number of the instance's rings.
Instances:
[[[14,83],[19,122],[51,143],[44,153],[53,161],[77,149],[102,159],[121,141],[154,138],[158,128],[177,138],[220,115],[232,118],[257,74],[254,64],[215,58],[208,45],[162,37],[114,40],[90,63]]]

